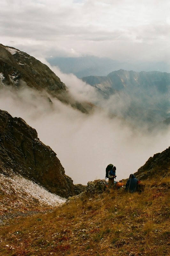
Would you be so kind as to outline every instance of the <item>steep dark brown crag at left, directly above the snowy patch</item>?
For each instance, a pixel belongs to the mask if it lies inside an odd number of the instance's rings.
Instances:
[[[65,175],[56,153],[44,145],[37,132],[21,118],[0,110],[0,172],[21,174],[51,193],[67,198],[74,185]]]

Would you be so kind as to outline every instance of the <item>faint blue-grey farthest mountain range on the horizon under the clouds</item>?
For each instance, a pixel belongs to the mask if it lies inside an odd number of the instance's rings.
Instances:
[[[105,76],[112,71],[124,69],[140,71],[160,71],[170,73],[170,67],[166,62],[136,62],[126,63],[110,58],[99,58],[96,56],[83,57],[50,57],[47,61],[51,66],[58,66],[63,73],[73,73],[78,78],[84,76]]]

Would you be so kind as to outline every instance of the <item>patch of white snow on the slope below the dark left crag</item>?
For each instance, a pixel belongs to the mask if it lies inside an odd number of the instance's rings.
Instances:
[[[48,206],[58,206],[66,202],[66,198],[62,198],[48,192],[42,186],[39,186],[33,181],[25,179],[21,175],[14,174],[12,177],[7,177],[0,174],[0,180],[1,183],[3,182],[1,190],[4,190],[4,193],[6,194],[13,193],[13,191],[11,191],[12,186],[12,189],[16,192],[16,194],[26,193],[28,198],[35,198],[40,203]]]

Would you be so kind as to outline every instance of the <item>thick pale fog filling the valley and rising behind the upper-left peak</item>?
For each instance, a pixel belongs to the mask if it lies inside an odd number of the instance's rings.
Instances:
[[[78,100],[99,100],[94,88],[73,74],[53,69]],[[104,179],[110,163],[117,168],[117,180],[127,178],[149,157],[169,146],[169,129],[148,132],[135,123],[109,118],[106,111],[99,109],[87,115],[50,97],[51,105],[43,93],[29,88],[0,88],[0,109],[23,118],[36,129],[40,140],[57,153],[74,184]]]

